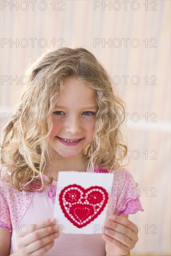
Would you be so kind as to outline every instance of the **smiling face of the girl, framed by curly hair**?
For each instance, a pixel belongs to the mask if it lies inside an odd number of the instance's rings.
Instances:
[[[52,115],[51,148],[62,158],[82,154],[83,148],[93,140],[96,112],[95,91],[74,77],[66,78]],[[61,138],[78,141],[65,142]]]

